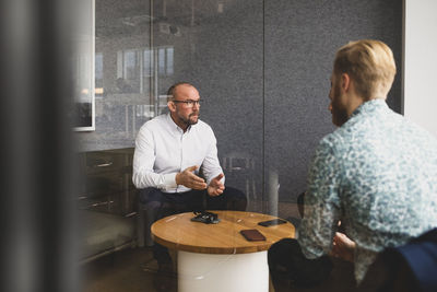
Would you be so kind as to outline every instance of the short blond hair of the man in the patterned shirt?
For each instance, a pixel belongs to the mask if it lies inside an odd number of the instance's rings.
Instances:
[[[393,52],[380,40],[350,42],[335,55],[333,73],[347,73],[356,93],[366,101],[386,98],[395,72]]]

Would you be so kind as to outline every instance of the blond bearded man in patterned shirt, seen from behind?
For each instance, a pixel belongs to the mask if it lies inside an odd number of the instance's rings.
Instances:
[[[437,226],[437,140],[387,106],[394,74],[381,42],[336,52],[329,109],[340,128],[317,147],[298,240],[269,250],[275,285],[284,277],[322,282],[329,254],[353,261],[361,283],[378,253]],[[336,232],[340,221],[345,234]]]

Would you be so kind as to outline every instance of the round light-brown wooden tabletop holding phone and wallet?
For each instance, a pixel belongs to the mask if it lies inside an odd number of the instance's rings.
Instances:
[[[168,248],[202,254],[247,254],[269,249],[284,237],[293,238],[292,223],[260,226],[258,222],[276,217],[241,211],[212,211],[221,222],[204,224],[190,221],[192,212],[163,218],[152,225],[153,240]],[[262,242],[248,242],[240,230],[257,229],[265,236]]]

